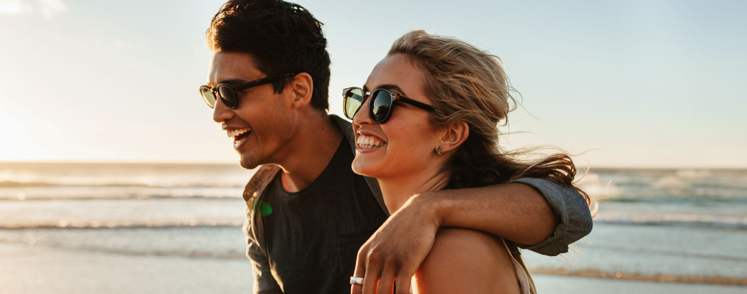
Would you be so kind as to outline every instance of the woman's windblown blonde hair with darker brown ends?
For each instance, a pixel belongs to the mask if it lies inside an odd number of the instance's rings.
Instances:
[[[431,112],[437,127],[457,121],[469,125],[466,141],[445,167],[451,188],[481,187],[521,177],[551,179],[573,186],[576,167],[565,153],[522,160],[533,149],[500,152],[498,125],[516,103],[498,57],[473,45],[425,31],[411,31],[391,45],[388,55],[406,54],[425,72],[425,94],[440,112]],[[506,120],[503,124],[507,124]],[[580,192],[590,204],[589,196]]]

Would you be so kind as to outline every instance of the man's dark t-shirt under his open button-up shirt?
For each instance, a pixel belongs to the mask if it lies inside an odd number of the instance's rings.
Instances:
[[[281,173],[267,186],[267,253],[284,293],[350,293],[358,249],[387,218],[351,162],[353,151],[343,140],[309,187],[288,193]]]

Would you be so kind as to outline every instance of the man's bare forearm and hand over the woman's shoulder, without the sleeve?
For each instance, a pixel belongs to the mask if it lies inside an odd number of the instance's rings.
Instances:
[[[552,243],[546,239],[557,223],[545,197],[524,184],[418,194],[391,214],[363,244],[353,273],[364,278],[363,286],[353,285],[351,290],[355,294],[374,293],[379,283],[379,290],[388,291],[388,281],[397,277],[397,293],[409,293],[404,291],[409,290],[415,270],[433,251],[439,228],[474,229],[514,243],[535,244]]]

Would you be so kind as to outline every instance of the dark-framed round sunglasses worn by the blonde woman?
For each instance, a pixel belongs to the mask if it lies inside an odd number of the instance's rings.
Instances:
[[[342,97],[344,98],[342,103],[343,112],[350,119],[353,119],[353,115],[356,115],[356,112],[358,112],[366,99],[370,97],[371,102],[368,103],[368,114],[371,116],[371,121],[376,124],[384,124],[391,117],[392,109],[394,109],[394,104],[397,101],[408,103],[427,111],[439,112],[433,106],[406,98],[399,93],[391,92],[387,89],[375,89],[372,92],[365,92],[361,88],[352,87],[342,90]]]

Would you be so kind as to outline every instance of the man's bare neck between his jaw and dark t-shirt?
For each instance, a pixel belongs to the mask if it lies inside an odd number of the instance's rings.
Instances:
[[[311,185],[332,161],[344,134],[326,115],[314,115],[300,124],[291,153],[279,162],[282,187],[298,192]]]

